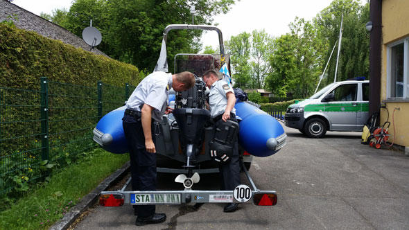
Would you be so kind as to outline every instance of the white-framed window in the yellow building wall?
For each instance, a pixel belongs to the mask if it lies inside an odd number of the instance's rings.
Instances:
[[[388,46],[388,98],[409,99],[409,38]]]

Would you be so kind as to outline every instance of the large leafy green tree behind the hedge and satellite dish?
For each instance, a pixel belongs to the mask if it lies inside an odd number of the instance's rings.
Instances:
[[[101,51],[116,60],[152,71],[159,57],[164,28],[191,21],[191,5],[196,10],[195,24],[210,24],[211,17],[227,12],[233,3],[234,0],[76,0],[69,9],[67,24],[62,26],[80,36],[92,19],[93,26],[103,35],[98,46]],[[173,63],[176,53],[200,51],[201,34],[200,30],[169,33],[168,63]]]

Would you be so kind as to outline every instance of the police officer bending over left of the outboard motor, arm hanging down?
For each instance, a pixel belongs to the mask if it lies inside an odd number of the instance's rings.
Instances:
[[[143,78],[126,103],[123,131],[130,150],[131,184],[133,191],[156,190],[156,149],[154,121],[162,121],[167,107],[168,89],[184,91],[195,85],[190,72],[177,74],[157,71]],[[141,226],[164,222],[166,214],[155,213],[155,205],[134,206],[135,222]]]

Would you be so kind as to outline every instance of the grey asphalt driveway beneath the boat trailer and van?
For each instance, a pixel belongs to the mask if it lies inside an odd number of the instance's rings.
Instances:
[[[285,128],[288,143],[277,154],[254,158],[250,174],[260,189],[277,191],[276,206],[222,204],[157,206],[162,224],[138,229],[408,229],[409,157],[360,144],[358,132],[328,132],[308,139]],[[174,175],[158,175],[159,189],[182,189]],[[246,182],[244,175],[242,181]],[[218,189],[218,175],[201,175],[195,189]],[[132,207],[91,209],[76,229],[135,229]]]

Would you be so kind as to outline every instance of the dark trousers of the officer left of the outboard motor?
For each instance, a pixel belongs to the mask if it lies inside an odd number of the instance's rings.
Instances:
[[[130,151],[132,191],[155,191],[156,154],[146,152],[141,119],[125,114],[122,120],[123,131]],[[155,135],[152,135],[152,138],[155,143]],[[137,208],[138,216],[141,218],[155,213],[155,205],[140,205],[134,206],[134,208]]]

